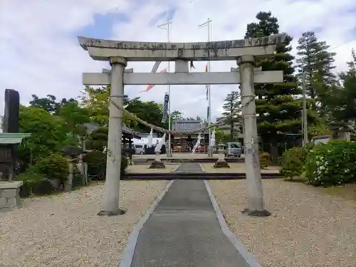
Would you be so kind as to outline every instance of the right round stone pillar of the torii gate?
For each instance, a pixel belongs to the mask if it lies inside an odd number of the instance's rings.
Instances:
[[[269,216],[263,207],[263,191],[260,159],[258,154],[258,135],[256,122],[255,92],[253,88],[254,56],[241,56],[237,65],[241,75],[241,104],[244,120],[244,145],[248,208],[243,213],[251,216]]]

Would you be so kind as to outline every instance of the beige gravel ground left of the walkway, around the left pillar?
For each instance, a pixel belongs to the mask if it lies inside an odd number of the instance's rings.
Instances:
[[[168,182],[123,181],[123,216],[97,216],[103,185],[24,199],[0,213],[0,266],[118,266],[132,227]]]

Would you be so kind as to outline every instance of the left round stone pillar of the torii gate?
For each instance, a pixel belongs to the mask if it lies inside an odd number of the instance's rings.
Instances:
[[[110,99],[117,106],[123,107],[124,97],[124,71],[127,66],[125,58],[114,56],[110,58],[111,65],[111,91]],[[110,102],[109,106],[109,132],[108,132],[108,157],[106,160],[105,175],[105,200],[104,206],[98,215],[124,214],[119,208],[120,169],[122,151],[122,110],[117,109]]]

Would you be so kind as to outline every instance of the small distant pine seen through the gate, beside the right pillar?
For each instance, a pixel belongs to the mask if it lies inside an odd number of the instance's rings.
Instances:
[[[227,125],[230,125],[230,138],[234,140],[236,122],[241,122],[241,98],[239,92],[232,91],[226,95],[224,101],[223,120]]]

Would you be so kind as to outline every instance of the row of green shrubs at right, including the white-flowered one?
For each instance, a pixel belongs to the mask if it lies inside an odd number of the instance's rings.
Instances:
[[[356,142],[293,147],[283,153],[281,174],[289,179],[304,176],[316,187],[356,182]]]

